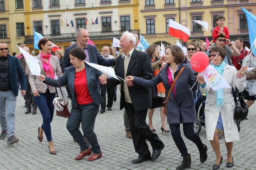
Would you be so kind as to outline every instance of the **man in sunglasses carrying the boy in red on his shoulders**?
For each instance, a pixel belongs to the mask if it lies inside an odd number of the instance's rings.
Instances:
[[[229,58],[228,56],[239,56],[240,55],[240,52],[239,50],[231,43],[231,41],[227,38],[225,38],[222,34],[216,39],[216,45],[217,46],[221,46],[221,47],[224,47],[225,45],[225,42],[227,43],[227,45],[229,47],[232,47],[233,50],[230,49],[230,55],[226,54],[226,57],[224,58],[224,62],[230,66],[234,66],[232,63],[231,63],[231,58]],[[207,55],[209,55],[209,50],[206,52]]]

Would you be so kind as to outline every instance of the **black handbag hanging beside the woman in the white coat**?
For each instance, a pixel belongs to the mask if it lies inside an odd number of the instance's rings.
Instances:
[[[236,96],[237,96],[237,101],[236,101],[236,107],[234,110],[234,120],[236,120],[237,122],[241,122],[248,115],[248,107],[243,99],[243,93],[241,93],[241,97],[239,99],[239,92],[237,87],[236,87]]]

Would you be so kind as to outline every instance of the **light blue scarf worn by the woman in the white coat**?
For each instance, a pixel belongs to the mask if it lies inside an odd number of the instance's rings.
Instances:
[[[219,65],[219,66],[215,66],[215,65],[212,65],[212,66],[218,71],[219,74],[222,75],[223,69],[225,67],[225,62],[222,62],[221,65]],[[215,100],[217,102],[217,107],[224,106],[223,97],[224,97],[224,89],[223,88],[215,91]]]

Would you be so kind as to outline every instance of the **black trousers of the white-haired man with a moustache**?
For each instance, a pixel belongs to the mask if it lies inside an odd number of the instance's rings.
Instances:
[[[132,103],[125,102],[125,110],[130,122],[132,141],[135,151],[139,157],[150,155],[146,139],[151,143],[152,149],[160,149],[163,142],[157,134],[152,132],[146,123],[147,109],[144,111],[135,111]]]

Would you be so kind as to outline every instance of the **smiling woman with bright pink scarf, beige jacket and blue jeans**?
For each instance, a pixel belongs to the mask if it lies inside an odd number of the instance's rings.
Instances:
[[[38,42],[38,48],[41,52],[38,56],[35,56],[39,60],[39,66],[41,74],[47,75],[54,79],[55,73],[60,77],[63,73],[59,65],[58,57],[52,55],[52,39],[42,38]],[[42,81],[36,79],[35,75],[30,73],[29,83],[34,95],[34,101],[37,104],[42,117],[43,124],[38,128],[38,140],[43,141],[43,132],[49,143],[49,150],[51,154],[56,154],[56,150],[53,145],[51,122],[53,120],[54,105],[53,99],[55,98],[55,87],[47,86]]]

